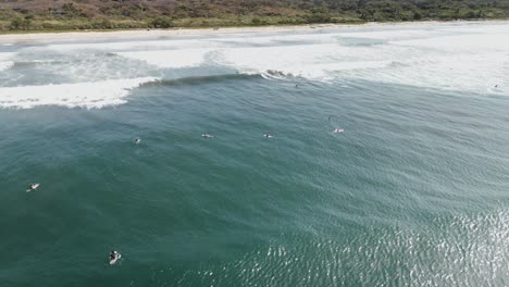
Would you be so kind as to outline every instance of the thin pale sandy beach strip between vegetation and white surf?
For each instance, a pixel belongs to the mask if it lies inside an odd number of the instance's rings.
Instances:
[[[67,41],[86,39],[128,39],[139,37],[163,36],[200,36],[235,33],[284,33],[305,32],[330,28],[358,28],[358,27],[386,27],[386,26],[435,26],[444,24],[509,24],[509,20],[483,21],[419,21],[419,22],[368,22],[362,24],[306,24],[306,25],[277,25],[277,26],[238,26],[238,27],[207,27],[207,28],[170,28],[170,29],[125,29],[125,30],[76,30],[76,32],[40,32],[0,34],[0,43],[18,41]]]

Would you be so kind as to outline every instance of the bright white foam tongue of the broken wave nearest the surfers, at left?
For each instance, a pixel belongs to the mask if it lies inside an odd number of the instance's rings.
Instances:
[[[94,83],[0,88],[0,108],[30,109],[39,105],[103,108],[125,103],[129,90],[153,77]]]

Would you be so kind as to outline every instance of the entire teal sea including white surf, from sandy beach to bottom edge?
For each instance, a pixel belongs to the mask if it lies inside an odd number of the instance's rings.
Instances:
[[[508,286],[508,36],[0,43],[0,286]]]

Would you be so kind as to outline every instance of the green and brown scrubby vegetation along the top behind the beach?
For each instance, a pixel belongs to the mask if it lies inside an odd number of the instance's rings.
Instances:
[[[0,30],[508,18],[509,0],[0,0]]]

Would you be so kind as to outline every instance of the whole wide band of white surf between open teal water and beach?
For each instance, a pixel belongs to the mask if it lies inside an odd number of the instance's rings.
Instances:
[[[142,84],[204,76],[203,68],[506,95],[508,33],[505,24],[469,23],[10,45],[0,47],[0,108],[122,104]]]

